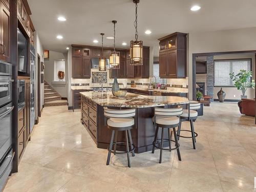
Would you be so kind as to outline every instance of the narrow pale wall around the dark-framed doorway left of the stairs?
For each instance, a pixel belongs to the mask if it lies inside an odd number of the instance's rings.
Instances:
[[[38,99],[40,99],[40,110],[42,109],[42,105],[44,104],[44,82],[41,82],[41,86],[40,86],[40,96],[37,95],[37,79],[38,79],[38,70],[41,70],[40,67],[38,66],[38,60],[37,60],[37,54],[40,56],[40,61],[39,62],[44,62],[44,48],[42,47],[41,41],[39,39],[39,36],[37,34],[37,32],[34,33],[35,35],[35,50],[36,50],[36,54],[35,54],[35,63],[36,63],[36,75],[35,75],[35,98],[37,98],[35,100],[35,105],[36,105],[36,110],[35,110],[35,116],[38,116],[37,113],[37,103],[38,103]],[[44,72],[41,72],[44,73]]]

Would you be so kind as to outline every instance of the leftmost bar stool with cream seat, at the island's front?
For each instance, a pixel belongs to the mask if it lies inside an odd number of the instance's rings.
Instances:
[[[110,146],[108,148],[109,154],[108,159],[106,160],[106,165],[110,164],[110,157],[111,153],[115,154],[127,154],[127,160],[128,160],[128,166],[131,167],[131,161],[130,161],[130,153],[132,152],[133,157],[135,156],[134,150],[135,146],[132,141],[132,135],[131,135],[131,129],[133,129],[134,126],[134,118],[135,117],[135,109],[127,109],[127,110],[113,110],[109,108],[104,108],[104,116],[106,118],[109,118],[107,121],[108,128],[112,130],[111,140],[110,140]],[[125,141],[119,141],[117,142],[117,134],[118,131],[124,131],[125,132]],[[115,142],[114,141],[115,137]],[[129,140],[128,140],[129,137]],[[126,145],[126,152],[116,152],[116,145],[118,143],[125,143]],[[131,150],[129,151],[129,143],[131,146]],[[114,151],[112,150],[114,145]]]

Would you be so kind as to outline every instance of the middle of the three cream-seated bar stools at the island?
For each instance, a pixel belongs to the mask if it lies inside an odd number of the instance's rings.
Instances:
[[[179,150],[180,144],[178,143],[178,138],[177,138],[176,129],[175,129],[175,127],[177,127],[180,123],[179,116],[181,114],[182,114],[182,108],[180,106],[178,106],[178,108],[154,108],[154,126],[156,127],[156,133],[155,133],[155,138],[153,141],[152,153],[155,152],[155,147],[160,148],[159,163],[162,162],[162,151],[163,150],[165,150],[165,151],[177,150],[178,158],[181,161],[180,150]],[[159,127],[162,128],[161,139],[157,139]],[[172,138],[170,136],[169,129],[171,129],[171,128],[174,131],[174,139],[175,140],[172,140]],[[168,139],[163,138],[164,129],[168,130]],[[157,143],[158,140],[161,140],[160,146],[157,146],[157,144],[159,144],[159,143]],[[163,148],[163,140],[167,140],[169,142],[169,149]],[[171,148],[170,142],[175,142],[176,147]]]

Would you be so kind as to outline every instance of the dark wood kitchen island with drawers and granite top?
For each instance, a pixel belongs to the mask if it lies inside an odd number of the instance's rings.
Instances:
[[[148,96],[127,93],[124,98],[112,95],[112,92],[81,92],[81,123],[99,148],[107,148],[111,139],[111,131],[104,118],[105,106],[111,109],[136,108],[135,127],[131,130],[135,153],[142,153],[152,149],[155,136],[155,127],[152,122],[154,107],[169,108],[175,105],[187,104],[185,97],[175,96]],[[167,133],[165,133],[167,138]],[[124,140],[124,134],[118,135],[118,141]],[[167,143],[166,143],[167,146]],[[117,146],[123,150],[123,146]]]

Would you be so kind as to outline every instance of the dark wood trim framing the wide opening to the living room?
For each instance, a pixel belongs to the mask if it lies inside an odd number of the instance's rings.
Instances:
[[[254,74],[256,69],[256,50],[249,50],[249,51],[226,51],[226,52],[212,52],[212,53],[193,53],[192,54],[192,81],[193,81],[193,99],[196,99],[196,57],[200,56],[215,56],[215,55],[231,55],[231,54],[245,54],[251,53],[255,55],[254,60]],[[255,90],[255,97],[256,97],[256,89]],[[256,114],[256,102],[254,111]],[[255,116],[255,124],[256,124],[256,116]]]

